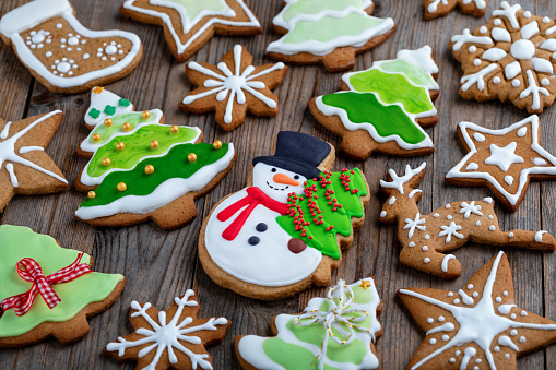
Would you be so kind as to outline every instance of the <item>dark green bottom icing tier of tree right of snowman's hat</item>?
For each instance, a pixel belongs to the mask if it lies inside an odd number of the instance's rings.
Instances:
[[[342,92],[324,95],[322,103],[345,110],[353,123],[370,123],[381,138],[398,135],[407,144],[427,139],[398,105],[383,106],[372,93]]]

